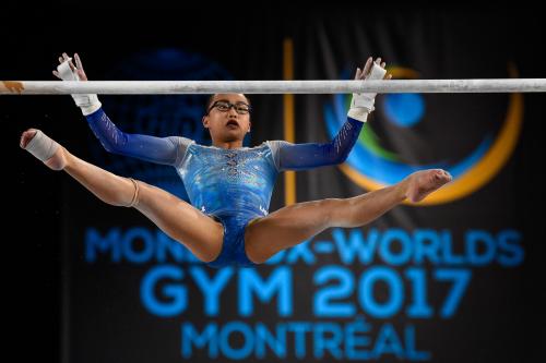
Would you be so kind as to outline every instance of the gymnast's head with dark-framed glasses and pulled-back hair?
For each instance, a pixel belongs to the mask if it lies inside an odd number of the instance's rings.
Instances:
[[[213,141],[221,143],[242,141],[250,132],[250,105],[244,94],[217,94],[207,105],[203,126]]]

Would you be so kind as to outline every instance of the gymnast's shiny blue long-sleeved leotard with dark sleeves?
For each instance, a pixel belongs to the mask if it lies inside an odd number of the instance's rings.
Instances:
[[[226,235],[238,233],[232,235],[232,239],[239,239],[234,255],[229,256],[228,252],[223,251],[218,259],[210,264],[214,267],[234,261],[240,265],[250,264],[241,255],[244,242],[240,233],[249,220],[268,215],[280,171],[343,162],[363,128],[361,122],[347,118],[330,143],[292,144],[285,141],[266,141],[256,147],[224,149],[199,145],[180,136],[128,134],[120,131],[102,109],[86,119],[108,152],[174,166],[182,179],[191,204],[218,218],[225,226]],[[226,240],[224,242],[227,244]]]

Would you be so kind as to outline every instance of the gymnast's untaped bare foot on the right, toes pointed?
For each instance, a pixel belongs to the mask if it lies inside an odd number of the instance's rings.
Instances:
[[[420,202],[451,179],[451,174],[442,169],[416,171],[406,179],[406,197],[413,203]]]

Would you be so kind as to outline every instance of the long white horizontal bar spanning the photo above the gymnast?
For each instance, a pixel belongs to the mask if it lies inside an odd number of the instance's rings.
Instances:
[[[546,92],[546,78],[391,81],[0,81],[0,95]]]

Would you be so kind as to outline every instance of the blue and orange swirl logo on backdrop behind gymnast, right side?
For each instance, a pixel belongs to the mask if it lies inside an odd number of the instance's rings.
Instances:
[[[509,71],[511,77],[517,76],[513,68]],[[389,69],[389,72],[399,80],[418,77],[418,73],[411,69],[394,66]],[[332,104],[324,106],[324,119],[330,137],[335,137],[345,122],[349,102],[351,95],[334,95]],[[392,122],[397,128],[412,128],[426,114],[426,102],[419,94],[385,94],[380,102],[376,100],[375,113],[376,118],[380,118],[380,122]],[[511,94],[505,122],[496,138],[491,133],[486,134],[471,153],[458,161],[424,165],[404,162],[395,152],[382,147],[368,122],[346,162],[340,168],[353,182],[369,191],[394,184],[417,170],[442,168],[453,176],[453,181],[415,205],[449,203],[474,193],[502,169],[515,148],[522,122],[523,96]]]

